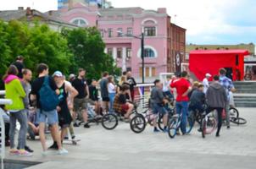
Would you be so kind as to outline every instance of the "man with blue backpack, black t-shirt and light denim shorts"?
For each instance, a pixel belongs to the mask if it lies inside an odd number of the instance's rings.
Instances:
[[[36,100],[36,119],[39,123],[39,135],[42,144],[42,155],[47,155],[47,145],[45,139],[46,123],[51,126],[53,140],[58,144],[58,155],[67,154],[64,150],[58,134],[58,87],[53,78],[48,76],[47,64],[40,63],[37,67],[38,78],[31,85],[31,101]]]

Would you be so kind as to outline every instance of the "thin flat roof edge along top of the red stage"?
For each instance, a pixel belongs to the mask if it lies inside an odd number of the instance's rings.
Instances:
[[[208,54],[242,54],[248,55],[248,50],[236,49],[236,50],[194,50],[189,54],[208,55]]]

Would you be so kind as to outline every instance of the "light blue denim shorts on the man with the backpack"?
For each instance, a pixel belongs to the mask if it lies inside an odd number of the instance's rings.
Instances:
[[[36,123],[48,123],[49,125],[58,124],[57,110],[45,112],[43,110],[36,110]]]

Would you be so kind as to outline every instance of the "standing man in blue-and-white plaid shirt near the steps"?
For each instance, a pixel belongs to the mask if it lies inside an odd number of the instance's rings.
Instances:
[[[220,68],[219,74],[220,74],[220,85],[222,85],[224,87],[226,97],[227,97],[227,101],[225,102],[226,127],[231,128],[231,119],[230,119],[230,99],[231,99],[231,95],[230,95],[230,91],[235,92],[236,89],[235,89],[235,86],[233,85],[232,80],[225,76],[225,74],[226,74],[225,68]]]

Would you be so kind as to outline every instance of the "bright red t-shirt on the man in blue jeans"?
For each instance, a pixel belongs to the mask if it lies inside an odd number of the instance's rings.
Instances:
[[[177,90],[177,98],[176,101],[189,101],[188,96],[182,96],[186,90],[190,87],[190,83],[187,79],[175,79],[170,84],[171,88],[176,88]]]

